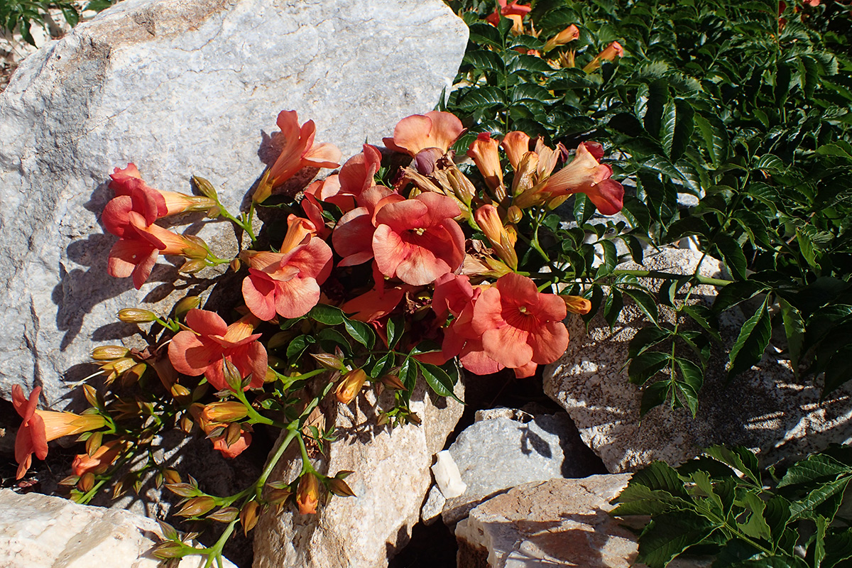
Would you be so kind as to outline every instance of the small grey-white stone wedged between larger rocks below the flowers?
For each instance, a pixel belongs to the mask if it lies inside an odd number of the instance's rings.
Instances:
[[[467,490],[446,500],[441,516],[447,525],[515,485],[587,474],[588,464],[577,457],[583,455],[584,448],[568,417],[554,414],[531,418],[529,422],[505,417],[474,422],[458,435],[449,451]]]

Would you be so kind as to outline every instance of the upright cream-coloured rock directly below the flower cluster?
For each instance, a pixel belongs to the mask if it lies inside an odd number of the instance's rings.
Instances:
[[[462,398],[462,393],[459,382],[456,394]],[[264,514],[255,529],[255,568],[388,565],[409,541],[431,483],[432,456],[444,447],[463,410],[452,399],[433,404],[422,383],[412,393],[411,408],[423,423],[389,430],[376,424],[371,393],[338,407],[338,439],[327,457],[317,457],[324,473],[354,470],[346,482],[357,496],[333,497],[315,515],[292,507]],[[279,466],[270,480],[289,482],[301,466],[301,460]]]

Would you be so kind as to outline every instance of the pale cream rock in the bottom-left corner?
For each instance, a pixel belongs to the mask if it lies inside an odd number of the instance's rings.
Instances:
[[[148,552],[161,536],[154,520],[127,511],[0,490],[3,568],[156,568],[159,560]],[[187,556],[180,566],[200,568],[204,560]],[[227,559],[224,565],[234,566]]]

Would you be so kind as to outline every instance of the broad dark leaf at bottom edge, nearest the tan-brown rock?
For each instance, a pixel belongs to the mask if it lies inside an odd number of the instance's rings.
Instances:
[[[717,525],[694,513],[665,513],[654,517],[639,537],[639,556],[648,568],[665,568],[684,550],[702,542]]]

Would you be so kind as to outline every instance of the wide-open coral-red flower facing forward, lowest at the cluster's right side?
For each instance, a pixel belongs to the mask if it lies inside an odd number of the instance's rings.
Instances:
[[[565,316],[565,302],[559,296],[542,294],[533,280],[512,273],[482,290],[471,324],[488,357],[521,369],[530,363],[552,363],[565,353]]]

